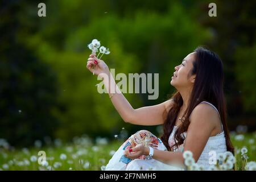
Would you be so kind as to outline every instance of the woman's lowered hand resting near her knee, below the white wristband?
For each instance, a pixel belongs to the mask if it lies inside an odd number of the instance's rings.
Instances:
[[[148,150],[148,147],[143,146],[143,144],[138,144],[134,148],[127,147],[124,155],[129,159],[137,159],[141,155],[148,155]]]

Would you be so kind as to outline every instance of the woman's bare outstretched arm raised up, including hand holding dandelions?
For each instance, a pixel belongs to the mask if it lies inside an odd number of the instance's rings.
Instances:
[[[134,125],[145,126],[162,125],[164,123],[168,110],[172,106],[172,100],[167,100],[158,105],[145,106],[134,109],[126,100],[125,96],[123,96],[118,86],[115,84],[115,80],[104,61],[99,60],[96,57],[89,58],[87,68],[91,72],[93,72],[93,69],[90,68],[90,65],[92,64],[96,65],[94,71],[95,75],[99,75],[104,78],[104,85],[106,90],[108,90],[109,97],[111,97],[110,100],[112,101],[112,104],[118,111],[119,115],[122,117],[123,121]],[[112,90],[112,92],[110,92],[110,90]],[[115,93],[113,95],[114,90]]]

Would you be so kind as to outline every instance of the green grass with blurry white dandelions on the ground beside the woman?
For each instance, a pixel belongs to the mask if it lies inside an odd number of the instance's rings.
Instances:
[[[243,140],[237,140],[236,134],[231,135],[232,143],[237,151],[246,147],[249,156],[248,162],[256,161],[255,133],[244,134]],[[112,157],[110,151],[116,151],[122,141],[103,141],[102,144],[95,144],[88,138],[77,138],[76,142],[66,143],[60,146],[49,145],[46,147],[20,148],[7,150],[0,147],[0,169],[2,170],[101,170],[106,166]],[[48,167],[38,164],[38,160],[31,161],[31,156],[38,156],[39,151],[46,152]],[[61,160],[60,155],[65,154],[66,159]],[[236,152],[237,154],[237,152]],[[242,169],[241,152],[236,155],[237,169]],[[61,163],[61,166],[57,163]]]

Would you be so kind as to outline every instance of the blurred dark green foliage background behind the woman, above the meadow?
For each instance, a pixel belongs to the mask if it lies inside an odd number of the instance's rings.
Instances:
[[[38,4],[46,3],[46,17]],[[124,94],[136,109],[166,101],[174,67],[197,46],[224,63],[229,130],[256,130],[255,3],[214,1],[19,1],[0,3],[0,138],[31,146],[76,136],[126,138],[160,127],[122,121],[86,69],[92,39],[110,49],[115,73],[159,73],[159,98]]]

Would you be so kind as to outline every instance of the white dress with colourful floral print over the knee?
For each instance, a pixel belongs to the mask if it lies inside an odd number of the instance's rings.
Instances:
[[[207,101],[203,101],[207,104],[210,104]],[[203,103],[201,102],[201,103]],[[210,104],[212,105],[212,104]],[[216,107],[212,105],[214,109]],[[217,110],[217,109],[216,109]],[[218,112],[218,110],[217,110]],[[219,114],[219,113],[218,113]],[[172,130],[172,133],[170,134],[168,143],[170,146],[172,146],[176,141],[174,139],[174,134],[177,129],[177,126],[174,126],[174,129]],[[187,133],[183,133],[183,137],[185,138]],[[112,156],[112,159],[109,160],[109,163],[106,166],[106,171],[112,171],[112,170],[184,170],[180,166],[175,165],[168,165],[164,164],[162,162],[159,162],[155,159],[146,159],[146,156],[142,155],[138,159],[128,159],[126,158],[123,153],[127,147],[134,147],[138,143],[142,143],[145,146],[151,146],[157,150],[167,150],[166,146],[164,146],[163,142],[155,137],[150,131],[147,130],[140,130],[137,133],[131,135],[130,138],[124,142],[121,147],[118,148],[118,150],[115,152],[115,154]],[[181,144],[174,152],[183,152],[184,147],[183,144]],[[213,137],[209,137],[207,144],[204,147],[203,152],[200,155],[200,158],[197,160],[197,164],[200,164],[204,167],[205,170],[207,170],[211,164],[209,164],[210,159],[210,152],[214,151],[216,154],[226,152],[226,140],[225,140],[225,134],[223,131],[222,126],[222,132],[220,134],[217,134]]]

